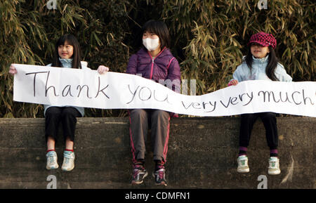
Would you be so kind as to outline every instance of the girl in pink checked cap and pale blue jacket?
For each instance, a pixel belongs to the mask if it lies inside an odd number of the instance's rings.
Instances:
[[[248,46],[249,51],[241,65],[233,74],[233,79],[228,86],[237,85],[245,80],[270,80],[270,81],[292,81],[292,78],[278,63],[274,48],[277,41],[272,34],[259,32],[251,36]],[[265,126],[265,136],[270,148],[270,159],[268,174],[277,175],[281,173],[279,169],[279,158],[277,152],[278,135],[277,119],[274,112],[261,112],[255,114],[242,114],[239,131],[239,157],[237,158],[239,173],[249,172],[248,157],[246,156],[249,145],[251,130],[258,117],[261,118]]]

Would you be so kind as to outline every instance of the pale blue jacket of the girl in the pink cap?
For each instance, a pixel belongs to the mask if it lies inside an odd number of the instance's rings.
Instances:
[[[237,67],[234,74],[232,74],[233,79],[237,79],[237,81],[245,81],[245,80],[271,80],[268,78],[267,74],[265,74],[265,67],[268,65],[268,58],[269,55],[267,55],[265,58],[254,58],[252,56],[253,62],[252,62],[252,70],[250,72],[250,69],[248,65],[246,64],[246,61],[244,61],[241,65]],[[283,65],[280,63],[277,63],[277,68],[275,69],[275,77],[279,81],[292,81],[291,76],[287,74],[285,71]]]

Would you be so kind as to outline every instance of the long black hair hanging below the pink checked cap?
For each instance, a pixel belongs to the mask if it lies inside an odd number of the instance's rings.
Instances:
[[[269,51],[270,53],[268,53],[268,65],[267,67],[265,67],[265,74],[267,74],[268,78],[272,81],[278,81],[279,79],[277,79],[277,77],[275,76],[275,69],[277,68],[277,63],[279,63],[279,59],[277,58],[277,55],[275,55],[275,51],[271,46],[269,46]],[[246,64],[248,65],[251,72],[253,58],[250,46],[244,61],[246,61]]]

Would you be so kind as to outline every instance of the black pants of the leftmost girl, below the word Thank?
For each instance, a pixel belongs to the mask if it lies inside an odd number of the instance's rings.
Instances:
[[[74,141],[74,130],[76,129],[77,118],[81,113],[74,107],[48,107],[45,112],[45,138],[48,136],[56,141],[58,138],[58,125],[62,123],[64,139],[67,137]]]

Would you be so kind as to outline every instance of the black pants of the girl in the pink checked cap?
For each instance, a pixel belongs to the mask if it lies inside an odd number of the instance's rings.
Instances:
[[[261,118],[265,126],[265,137],[270,150],[277,149],[277,118],[273,112],[262,112],[256,114],[242,114],[242,120],[239,132],[239,146],[248,147],[251,136],[251,130],[258,117]]]

